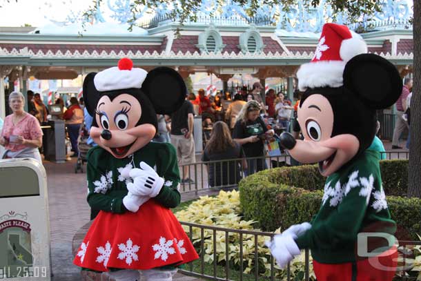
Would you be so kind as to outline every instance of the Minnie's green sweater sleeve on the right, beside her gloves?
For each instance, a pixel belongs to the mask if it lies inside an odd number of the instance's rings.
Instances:
[[[164,186],[155,200],[166,208],[175,208],[181,202],[181,195],[178,191],[180,182],[179,170],[177,166],[177,154],[171,144],[163,144],[157,153],[159,168],[158,174],[164,177]]]

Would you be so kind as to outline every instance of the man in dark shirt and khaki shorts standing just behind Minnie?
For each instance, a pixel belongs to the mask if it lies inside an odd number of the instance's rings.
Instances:
[[[185,100],[171,115],[171,144],[177,150],[178,164],[183,166],[182,183],[193,184],[188,173],[188,164],[195,162],[195,141],[193,139],[193,104]]]

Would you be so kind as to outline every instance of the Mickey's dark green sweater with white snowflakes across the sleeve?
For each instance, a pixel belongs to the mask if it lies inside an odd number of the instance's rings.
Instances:
[[[295,241],[300,249],[310,248],[317,262],[354,262],[364,258],[357,256],[358,233],[395,233],[396,225],[382,188],[379,160],[379,153],[367,150],[327,178],[322,206],[311,222],[311,229]],[[370,238],[367,252],[387,248],[385,239]]]

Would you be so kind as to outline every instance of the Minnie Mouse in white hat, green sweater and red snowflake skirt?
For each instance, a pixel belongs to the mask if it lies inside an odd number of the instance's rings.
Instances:
[[[180,202],[175,148],[150,140],[157,114],[184,101],[184,81],[171,68],[146,72],[124,58],[88,74],[83,90],[98,144],[87,155],[88,203],[99,214],[74,263],[115,280],[140,280],[141,270],[146,280],[170,281],[198,255],[169,209]]]

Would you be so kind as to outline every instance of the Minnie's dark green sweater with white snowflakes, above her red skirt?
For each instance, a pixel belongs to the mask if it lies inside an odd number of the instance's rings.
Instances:
[[[131,179],[123,177],[124,168],[126,167],[126,171],[139,168],[142,161],[151,167],[156,166],[157,174],[164,177],[164,186],[153,200],[167,208],[174,208],[180,203],[181,197],[177,191],[180,181],[177,155],[171,144],[150,142],[124,159],[117,159],[104,148],[96,146],[88,151],[86,158],[88,203],[92,209],[112,213],[126,212],[123,197],[128,193],[126,182]]]

